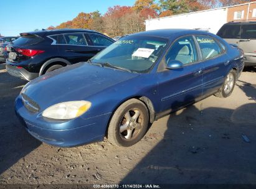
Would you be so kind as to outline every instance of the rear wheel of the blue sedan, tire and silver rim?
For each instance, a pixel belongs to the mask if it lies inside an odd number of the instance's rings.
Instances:
[[[219,98],[227,98],[233,92],[235,87],[235,80],[236,80],[236,72],[235,70],[230,70],[227,74],[225,81],[219,91],[214,95]]]

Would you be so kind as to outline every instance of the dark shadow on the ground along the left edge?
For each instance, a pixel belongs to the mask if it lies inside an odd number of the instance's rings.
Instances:
[[[4,69],[0,65],[0,175],[40,145],[14,113],[14,101],[27,81],[9,76]]]

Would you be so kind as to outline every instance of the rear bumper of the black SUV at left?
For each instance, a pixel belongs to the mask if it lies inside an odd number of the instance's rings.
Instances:
[[[12,76],[19,77],[23,80],[34,80],[34,78],[37,78],[39,76],[39,73],[31,73],[24,68],[17,68],[16,66],[12,66],[9,64],[6,64],[6,70],[8,73]]]

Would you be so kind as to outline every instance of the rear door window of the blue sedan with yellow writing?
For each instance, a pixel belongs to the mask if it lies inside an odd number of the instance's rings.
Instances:
[[[198,35],[196,40],[201,48],[203,59],[217,57],[222,53],[222,49],[219,44],[212,37],[207,35]]]

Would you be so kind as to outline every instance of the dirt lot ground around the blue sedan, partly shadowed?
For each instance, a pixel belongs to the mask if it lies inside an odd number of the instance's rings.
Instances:
[[[130,148],[107,140],[69,149],[37,141],[14,113],[25,83],[0,65],[0,184],[256,184],[256,68],[242,73],[229,98],[211,96],[159,119]]]

